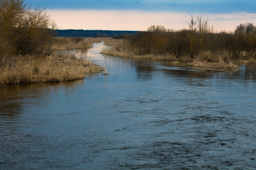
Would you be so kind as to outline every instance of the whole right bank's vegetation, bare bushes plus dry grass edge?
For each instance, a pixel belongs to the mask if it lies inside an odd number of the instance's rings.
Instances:
[[[189,61],[196,67],[235,69],[240,60],[256,59],[256,27],[241,24],[232,32],[214,32],[208,18],[191,15],[188,30],[150,26],[146,32],[114,40],[102,53],[120,57]]]

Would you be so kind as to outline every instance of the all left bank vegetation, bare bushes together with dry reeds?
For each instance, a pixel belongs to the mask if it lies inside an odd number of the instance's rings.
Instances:
[[[24,0],[0,0],[0,85],[71,81],[103,71],[91,61],[54,54],[101,40],[54,38],[55,28],[45,8],[32,9]]]

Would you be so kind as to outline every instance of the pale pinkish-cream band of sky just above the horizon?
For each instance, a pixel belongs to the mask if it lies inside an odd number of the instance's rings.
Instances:
[[[189,13],[141,10],[47,10],[58,29],[83,30],[147,30],[150,25],[162,25],[167,29],[187,28]],[[198,14],[193,14],[194,16]],[[234,31],[246,22],[256,24],[256,14],[202,14],[209,17],[209,25],[216,31]]]

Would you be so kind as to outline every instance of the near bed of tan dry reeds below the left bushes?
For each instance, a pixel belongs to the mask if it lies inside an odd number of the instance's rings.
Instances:
[[[85,73],[103,70],[91,61],[77,59],[72,55],[27,55],[13,57],[0,64],[0,85],[72,81],[83,78]]]

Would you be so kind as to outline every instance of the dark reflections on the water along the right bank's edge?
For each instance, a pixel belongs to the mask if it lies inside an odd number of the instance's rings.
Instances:
[[[155,72],[163,72],[168,79],[179,77],[184,79],[185,83],[196,86],[204,86],[200,81],[205,79],[237,79],[237,80],[256,80],[256,66],[242,64],[239,69],[225,72],[205,72],[191,70],[190,67],[177,67],[172,65],[170,61],[157,61],[154,63],[150,60],[135,60],[134,67],[137,72],[138,79],[152,79],[152,75],[159,74]],[[244,81],[246,83],[246,81]]]

